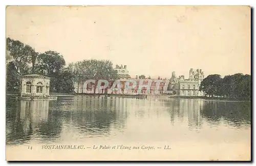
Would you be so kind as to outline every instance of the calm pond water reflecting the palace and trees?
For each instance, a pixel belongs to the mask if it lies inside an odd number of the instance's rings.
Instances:
[[[7,146],[169,145],[173,159],[250,159],[250,102],[89,96],[6,102]]]

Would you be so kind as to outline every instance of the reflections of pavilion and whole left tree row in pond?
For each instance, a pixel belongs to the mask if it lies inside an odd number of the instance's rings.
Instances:
[[[123,132],[129,116],[127,98],[75,96],[70,100],[7,99],[7,143],[30,140],[57,142],[72,134],[77,139]],[[61,138],[60,140],[62,140]]]

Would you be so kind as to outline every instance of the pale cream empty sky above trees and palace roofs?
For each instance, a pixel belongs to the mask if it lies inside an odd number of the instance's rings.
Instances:
[[[31,6],[6,9],[6,36],[66,63],[109,59],[131,76],[250,74],[247,6]]]

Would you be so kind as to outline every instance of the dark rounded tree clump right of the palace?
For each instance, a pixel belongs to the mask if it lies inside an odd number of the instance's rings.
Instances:
[[[210,97],[251,98],[251,75],[237,73],[221,78],[208,75],[201,82],[200,90]]]

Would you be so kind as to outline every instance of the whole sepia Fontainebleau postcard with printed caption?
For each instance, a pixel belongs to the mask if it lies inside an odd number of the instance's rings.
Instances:
[[[7,6],[6,160],[250,161],[249,6]]]

